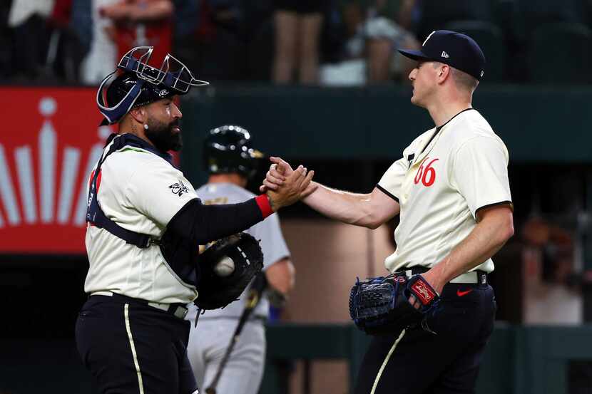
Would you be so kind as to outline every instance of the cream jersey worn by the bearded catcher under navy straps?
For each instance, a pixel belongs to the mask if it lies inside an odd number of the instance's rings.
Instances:
[[[197,198],[182,172],[141,147],[126,146],[109,155],[97,186],[98,203],[109,219],[155,240],[163,236],[170,219]],[[165,304],[186,304],[198,295],[193,284],[175,274],[157,245],[138,248],[89,224],[86,251],[90,266],[84,290],[88,294],[113,291]]]

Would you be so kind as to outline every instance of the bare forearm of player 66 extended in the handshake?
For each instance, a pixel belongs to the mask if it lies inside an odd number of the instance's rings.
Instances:
[[[316,185],[317,190],[302,200],[315,211],[356,226],[374,229],[382,224],[374,220],[369,194],[345,192],[318,183]]]

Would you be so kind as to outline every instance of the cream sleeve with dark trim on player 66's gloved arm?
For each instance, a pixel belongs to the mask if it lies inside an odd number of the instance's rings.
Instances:
[[[464,142],[452,160],[451,183],[474,217],[484,207],[511,205],[508,150],[501,140],[479,136]]]

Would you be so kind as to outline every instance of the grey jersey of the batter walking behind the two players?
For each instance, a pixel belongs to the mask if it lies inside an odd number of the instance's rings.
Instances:
[[[200,187],[196,192],[204,204],[234,204],[255,197],[248,190],[232,183],[208,183]],[[277,214],[272,214],[264,221],[247,229],[246,232],[255,237],[255,239],[260,240],[264,270],[276,261],[290,256],[290,251],[288,251],[286,242],[282,236],[280,219],[277,217]],[[243,291],[243,294],[240,295],[238,301],[228,304],[224,309],[206,311],[203,316],[200,316],[200,321],[202,319],[219,317],[240,318],[241,313],[245,309],[245,294],[248,291],[249,289],[247,287]],[[253,311],[253,315],[267,317],[268,311],[269,302],[263,297],[259,301],[259,304],[257,304],[255,311]],[[195,319],[196,313],[197,308],[194,304],[190,304],[186,318]]]

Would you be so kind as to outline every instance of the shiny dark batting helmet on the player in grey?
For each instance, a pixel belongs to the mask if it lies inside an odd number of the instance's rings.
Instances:
[[[224,125],[208,132],[203,143],[205,170],[210,174],[238,172],[250,178],[257,172],[263,153],[251,147],[250,133],[235,125]]]

